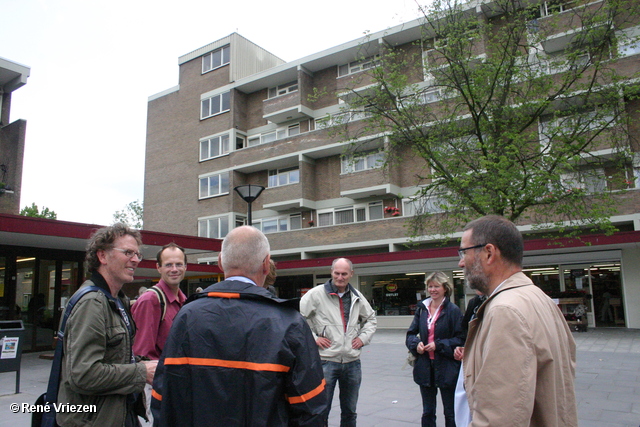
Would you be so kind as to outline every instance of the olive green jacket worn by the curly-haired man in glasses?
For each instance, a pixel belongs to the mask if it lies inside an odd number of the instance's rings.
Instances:
[[[91,285],[108,289],[97,273],[82,286]],[[131,315],[129,319],[133,323]],[[143,391],[146,367],[131,363],[132,337],[115,303],[102,292],[87,293],[73,307],[64,335],[58,403],[95,407],[86,412],[59,412],[58,424],[123,426],[131,409],[127,395]]]

